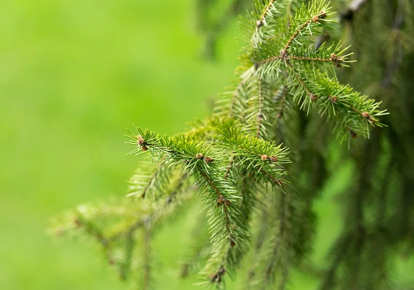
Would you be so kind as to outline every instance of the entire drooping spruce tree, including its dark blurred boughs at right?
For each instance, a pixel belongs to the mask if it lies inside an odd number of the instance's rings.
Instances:
[[[225,289],[229,278],[244,279],[245,289],[285,289],[315,238],[313,201],[329,176],[324,146],[344,142],[357,176],[344,198],[346,227],[332,245],[320,289],[386,289],[388,252],[401,245],[410,253],[414,249],[414,175],[409,165],[397,166],[413,158],[411,138],[404,140],[413,129],[412,85],[398,83],[413,75],[408,45],[413,3],[388,1],[392,12],[384,15],[364,0],[348,8],[325,1],[253,2],[240,25],[246,36],[237,78],[213,115],[176,136],[139,127],[128,132],[130,155],[148,157],[139,159],[128,198],[81,205],[57,220],[56,231],[88,234],[122,279],[151,289],[157,229],[186,207],[201,205],[197,240],[181,276],[196,274],[199,284],[217,289]],[[244,5],[231,3],[237,12]],[[344,12],[335,14],[331,5]],[[371,28],[391,28],[394,38],[384,58],[382,52],[364,54],[384,41],[374,36],[367,43],[358,36],[368,28],[355,25],[367,19]],[[342,41],[341,31],[348,34]],[[348,43],[363,64],[382,60],[377,79],[367,81],[353,70],[357,64]],[[375,99],[407,114],[388,115],[380,102],[346,83],[364,91],[373,84]],[[391,190],[397,194],[391,196]],[[197,269],[200,260],[204,266]],[[248,275],[240,275],[246,268]]]

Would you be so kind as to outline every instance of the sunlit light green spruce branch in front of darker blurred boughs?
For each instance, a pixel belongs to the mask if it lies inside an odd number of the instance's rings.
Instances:
[[[139,164],[128,183],[128,196],[138,198],[121,207],[77,211],[59,233],[83,229],[110,261],[110,255],[120,253],[115,263],[121,278],[131,276],[140,255],[141,287],[150,289],[152,236],[186,201],[199,198],[201,214],[208,220],[209,243],[204,239],[195,247],[181,275],[187,276],[198,260],[206,258],[200,284],[225,289],[227,277],[235,276],[255,236],[255,269],[250,269],[246,289],[274,289],[275,284],[285,289],[290,269],[308,251],[312,201],[317,195],[311,191],[322,186],[322,174],[307,176],[300,169],[321,168],[313,168],[323,161],[321,152],[304,147],[302,141],[311,136],[308,131],[322,131],[326,125],[308,122],[302,111],[327,116],[343,140],[370,136],[371,127],[382,127],[380,116],[387,114],[380,110],[381,103],[339,83],[337,69],[353,62],[349,47],[317,43],[332,28],[334,13],[328,3],[311,1],[298,8],[295,4],[256,0],[242,23],[247,37],[236,70],[239,78],[221,95],[213,117],[172,137],[140,128],[137,134],[129,133],[127,143],[133,146],[129,155],[146,154],[150,159]],[[315,147],[324,147],[319,136]],[[305,189],[302,183],[308,178],[317,180]],[[335,286],[339,267],[354,267],[350,273],[355,273],[355,287],[363,279],[356,272],[364,265],[360,256],[373,236],[364,225],[363,197],[358,198],[356,225],[338,238],[324,289]],[[347,254],[356,262],[346,264]],[[378,262],[384,262],[382,258]]]

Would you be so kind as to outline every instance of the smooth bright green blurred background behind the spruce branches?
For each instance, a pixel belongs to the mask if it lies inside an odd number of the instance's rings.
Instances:
[[[49,220],[124,196],[137,165],[126,128],[175,134],[208,115],[237,65],[236,21],[206,61],[192,0],[1,1],[0,289],[128,289],[91,243],[48,235]],[[333,196],[351,171],[336,169],[317,202],[317,264],[341,227]],[[177,279],[186,223],[157,236],[157,289],[195,289]],[[397,261],[407,284],[410,262]],[[317,284],[292,280],[293,289]]]

